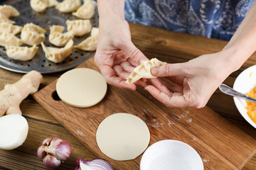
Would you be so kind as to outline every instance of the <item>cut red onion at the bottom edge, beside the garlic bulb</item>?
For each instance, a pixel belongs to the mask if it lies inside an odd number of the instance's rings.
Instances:
[[[105,159],[86,160],[78,158],[77,163],[78,166],[75,168],[75,170],[114,170],[111,164],[108,163]]]

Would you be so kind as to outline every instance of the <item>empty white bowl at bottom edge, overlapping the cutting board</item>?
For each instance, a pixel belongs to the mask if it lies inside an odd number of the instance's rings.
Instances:
[[[151,145],[140,162],[140,170],[203,170],[193,147],[178,140],[161,140]]]

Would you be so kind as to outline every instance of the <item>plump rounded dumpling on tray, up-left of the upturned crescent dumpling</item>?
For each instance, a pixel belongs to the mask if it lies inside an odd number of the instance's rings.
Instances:
[[[21,40],[27,45],[39,45],[46,38],[46,30],[33,23],[27,23],[21,31]]]

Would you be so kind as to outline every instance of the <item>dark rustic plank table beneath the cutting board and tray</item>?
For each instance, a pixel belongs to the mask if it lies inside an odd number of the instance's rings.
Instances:
[[[223,40],[174,33],[132,23],[130,23],[130,28],[132,41],[144,52],[146,57],[157,57],[159,60],[169,63],[186,62],[199,55],[218,52],[227,43]],[[233,86],[238,74],[253,64],[256,64],[256,54],[252,55],[238,71],[233,72],[224,83]],[[40,89],[60,77],[61,74],[63,72],[44,74]],[[0,69],[0,90],[4,89],[5,84],[12,84],[20,79],[22,75]],[[245,122],[240,113],[238,113],[232,97],[226,96],[217,90],[210,98],[207,106],[256,139],[255,128],[252,128],[251,125]],[[0,169],[46,169],[42,161],[36,156],[36,150],[47,137],[60,137],[72,145],[70,158],[59,169],[75,169],[75,161],[78,157],[84,159],[95,158],[95,155],[42,108],[33,99],[33,96],[28,96],[21,103],[21,111],[28,120],[28,137],[26,142],[17,149],[10,151],[0,150]],[[256,169],[256,157],[252,157],[243,169]]]

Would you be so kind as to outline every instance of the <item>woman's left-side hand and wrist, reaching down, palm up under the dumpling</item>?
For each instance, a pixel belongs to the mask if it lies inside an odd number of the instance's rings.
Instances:
[[[142,52],[135,47],[131,40],[129,24],[124,19],[124,1],[111,1],[110,11],[107,11],[109,4],[101,2],[100,11],[100,33],[95,54],[95,63],[100,68],[103,77],[108,84],[114,86],[136,89],[135,84],[126,84],[126,78],[143,60],[148,60]],[[108,13],[105,15],[104,13]],[[140,80],[137,84],[146,86]]]

